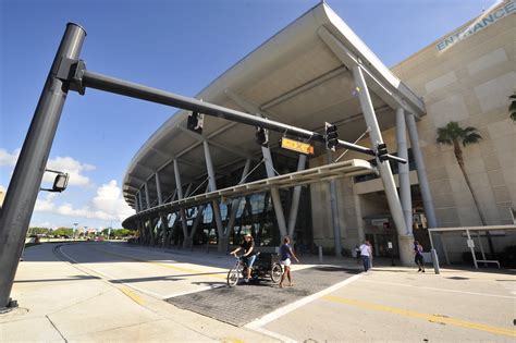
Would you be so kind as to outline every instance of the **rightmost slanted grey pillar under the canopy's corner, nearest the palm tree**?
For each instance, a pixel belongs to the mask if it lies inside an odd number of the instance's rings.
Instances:
[[[408,136],[410,137],[410,146],[413,148],[414,161],[416,162],[417,177],[419,180],[419,189],[421,191],[422,206],[428,219],[429,228],[437,228],[435,211],[433,209],[432,196],[428,185],[427,170],[422,159],[421,148],[419,147],[419,136],[417,133],[416,119],[414,114],[406,115]]]

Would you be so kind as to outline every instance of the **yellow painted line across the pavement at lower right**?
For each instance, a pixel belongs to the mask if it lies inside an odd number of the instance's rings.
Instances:
[[[333,302],[333,303],[346,304],[346,305],[352,305],[356,307],[361,307],[361,308],[372,309],[372,310],[378,310],[378,311],[383,311],[383,313],[395,314],[395,315],[405,316],[405,317],[419,318],[419,319],[423,319],[423,320],[428,320],[428,321],[437,322],[437,323],[444,323],[444,324],[450,324],[450,326],[455,326],[455,327],[460,327],[460,328],[467,328],[467,329],[486,331],[486,332],[491,332],[495,334],[502,334],[502,335],[516,338],[516,330],[512,330],[512,329],[492,327],[492,326],[488,326],[483,323],[471,322],[471,321],[450,318],[450,317],[440,316],[440,315],[421,314],[421,313],[417,313],[417,311],[413,311],[408,309],[390,307],[390,306],[384,306],[380,304],[349,299],[349,298],[344,298],[344,297],[333,296],[333,295],[325,295],[322,298],[329,302]]]

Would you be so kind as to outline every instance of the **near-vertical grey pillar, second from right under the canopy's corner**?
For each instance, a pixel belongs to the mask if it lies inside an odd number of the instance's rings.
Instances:
[[[405,113],[402,108],[396,110],[396,140],[397,156],[408,161],[407,135],[405,125]],[[413,200],[410,196],[410,179],[408,163],[397,163],[400,180],[400,198],[402,200],[403,215],[406,223],[406,234],[413,234]]]

